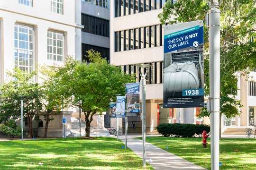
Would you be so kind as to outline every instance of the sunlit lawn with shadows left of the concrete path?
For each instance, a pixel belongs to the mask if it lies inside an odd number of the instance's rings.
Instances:
[[[0,170],[154,170],[122,146],[110,137],[4,141]]]

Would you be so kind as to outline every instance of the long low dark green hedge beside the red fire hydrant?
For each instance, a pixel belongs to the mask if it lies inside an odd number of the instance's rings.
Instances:
[[[195,137],[201,136],[202,132],[205,130],[208,135],[210,134],[210,126],[209,125],[195,125],[195,124],[168,124],[163,123],[156,127],[158,133],[163,136],[176,136],[176,137]]]

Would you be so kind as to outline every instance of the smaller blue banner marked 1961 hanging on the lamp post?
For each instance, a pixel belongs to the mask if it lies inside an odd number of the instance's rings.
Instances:
[[[126,84],[125,117],[140,117],[139,83]]]

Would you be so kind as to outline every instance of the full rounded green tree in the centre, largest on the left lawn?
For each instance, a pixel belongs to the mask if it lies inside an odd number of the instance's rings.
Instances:
[[[101,59],[99,52],[87,52],[91,63],[81,63],[68,57],[59,74],[62,75],[62,93],[66,103],[82,110],[86,136],[90,137],[92,116],[106,111],[115,94],[125,93],[124,84],[133,82],[134,78]]]

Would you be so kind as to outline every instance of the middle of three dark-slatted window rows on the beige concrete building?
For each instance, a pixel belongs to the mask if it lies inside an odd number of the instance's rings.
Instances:
[[[115,52],[162,46],[162,25],[115,32]]]

